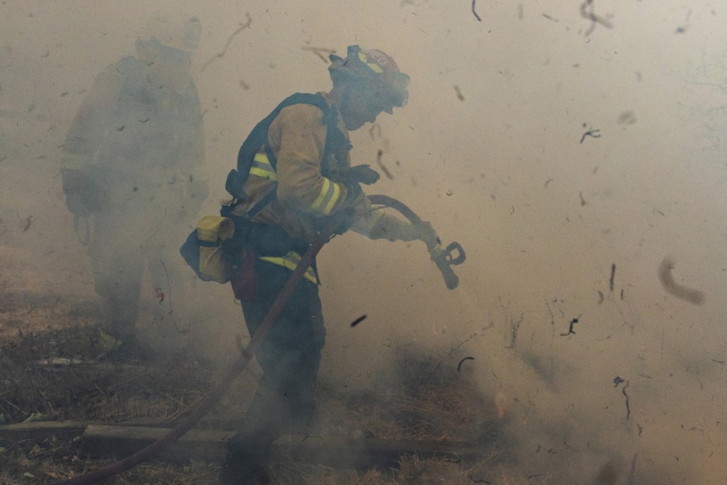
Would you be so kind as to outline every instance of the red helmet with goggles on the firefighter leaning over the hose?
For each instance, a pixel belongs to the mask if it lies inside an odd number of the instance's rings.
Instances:
[[[346,57],[330,55],[329,73],[334,87],[346,82],[363,82],[385,103],[401,107],[409,97],[409,76],[399,71],[390,55],[378,49],[349,46]]]

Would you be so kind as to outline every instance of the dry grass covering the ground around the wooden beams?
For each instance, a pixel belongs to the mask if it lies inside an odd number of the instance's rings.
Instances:
[[[18,305],[28,305],[25,300]],[[32,302],[31,302],[32,303]],[[45,304],[45,303],[44,303]],[[23,315],[5,302],[2,315]],[[25,308],[25,307],[23,307]],[[65,308],[66,313],[73,305]],[[86,308],[86,307],[84,307]],[[56,313],[62,310],[48,310]],[[33,312],[31,312],[33,313]],[[66,314],[64,318],[68,318]],[[19,318],[23,326],[22,318]],[[153,418],[171,422],[190,411],[219,369],[193,356],[175,356],[150,363],[39,365],[41,358],[92,361],[105,351],[95,326],[84,324],[17,332],[0,345],[0,413],[4,422],[28,417],[43,420],[111,421]],[[393,366],[396,379],[382,381],[361,393],[336,390],[323,383],[318,409],[327,433],[369,436],[382,440],[467,441],[486,450],[476,459],[422,458],[402,455],[395,467],[338,470],[277,454],[272,463],[280,485],[409,485],[409,484],[545,484],[518,476],[498,449],[497,409],[473,382],[424,349],[402,348]],[[254,379],[238,380],[206,422],[219,425],[235,417],[252,395]],[[233,418],[232,418],[233,419]],[[0,485],[42,484],[108,465],[76,454],[76,444],[63,436],[0,441]],[[214,484],[215,463],[146,462],[105,482],[124,484]],[[482,482],[481,482],[482,481]]]

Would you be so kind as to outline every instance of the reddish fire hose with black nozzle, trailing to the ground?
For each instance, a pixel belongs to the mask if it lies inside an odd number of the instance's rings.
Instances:
[[[409,219],[412,224],[419,228],[419,231],[422,233],[422,239],[427,244],[427,249],[429,249],[432,260],[441,270],[447,287],[449,289],[456,287],[459,280],[457,278],[457,275],[455,275],[454,271],[451,269],[451,265],[459,265],[465,260],[465,252],[462,251],[462,246],[459,246],[459,244],[457,243],[451,243],[449,244],[449,246],[446,246],[446,248],[443,249],[431,225],[429,223],[423,222],[416,214],[414,214],[413,211],[411,211],[411,209],[409,209],[409,207],[406,207],[406,205],[404,205],[400,201],[393,199],[389,196],[369,196],[369,199],[371,199],[372,204],[384,205],[386,207],[391,207],[398,212],[401,212],[404,217]],[[338,217],[333,217],[329,224],[326,225],[324,230],[319,233],[316,240],[313,241],[312,244],[310,244],[308,250],[304,254],[302,254],[302,256],[300,257],[300,262],[291,273],[288,281],[286,281],[283,289],[281,289],[278,297],[273,302],[273,305],[270,306],[270,310],[268,310],[268,314],[265,315],[265,318],[263,318],[260,327],[257,329],[257,332],[252,335],[250,342],[243,350],[241,350],[241,355],[230,366],[228,371],[222,377],[222,380],[220,380],[220,382],[214,388],[212,388],[212,390],[197,405],[193,412],[185,417],[177,426],[169,430],[169,433],[166,433],[166,435],[162,436],[157,441],[154,441],[152,444],[146,446],[145,448],[140,449],[138,452],[129,455],[129,457],[126,457],[118,462],[113,462],[111,463],[111,465],[107,465],[104,468],[99,468],[98,470],[86,473],[81,476],[68,478],[66,480],[53,481],[50,485],[97,484],[100,481],[118,475],[125,470],[129,470],[130,468],[133,468],[134,466],[139,465],[146,460],[150,460],[151,458],[156,456],[156,454],[166,449],[167,446],[173,444],[174,441],[177,441],[185,433],[192,429],[199,422],[199,420],[201,420],[205,416],[205,414],[207,414],[207,412],[209,412],[209,410],[212,409],[215,404],[217,404],[217,401],[220,401],[220,398],[222,398],[225,392],[227,392],[233,381],[242,371],[244,371],[247,364],[249,364],[249,362],[252,360],[252,357],[255,355],[255,353],[257,353],[257,350],[260,348],[262,340],[267,336],[273,324],[275,324],[276,320],[278,319],[278,316],[280,316],[280,313],[286,305],[286,302],[288,302],[288,300],[292,296],[295,287],[302,279],[305,271],[308,269],[308,266],[313,264],[313,260],[316,258],[316,255],[318,254],[318,252],[321,251],[321,248],[323,248],[323,246],[331,239],[340,223],[341,220]],[[457,249],[457,257],[453,257],[451,255],[451,252],[454,251],[454,249]]]

